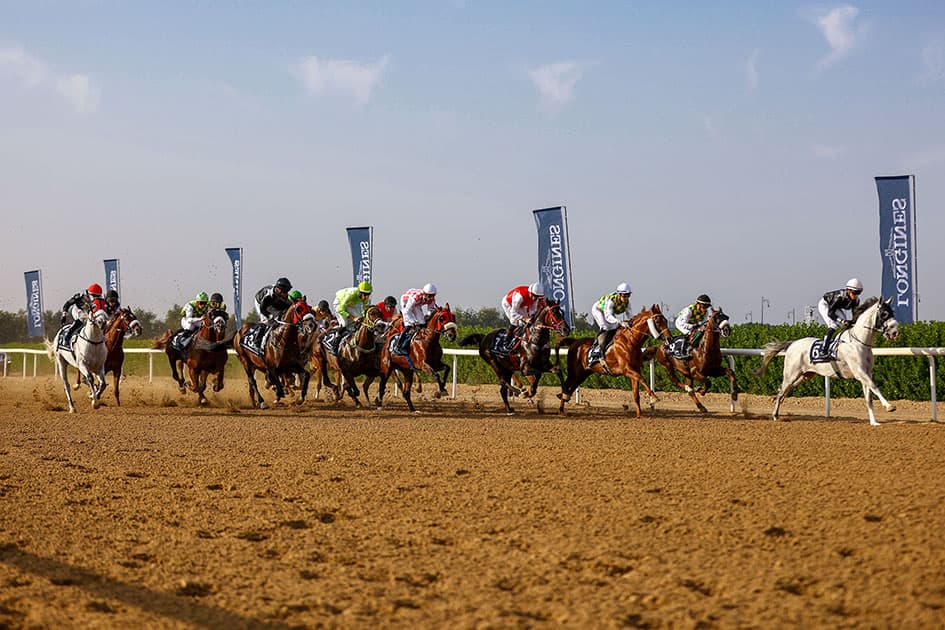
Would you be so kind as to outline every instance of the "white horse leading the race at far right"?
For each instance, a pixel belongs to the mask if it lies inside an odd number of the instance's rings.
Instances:
[[[773,341],[763,348],[764,355],[761,361],[761,372],[764,376],[768,363],[782,350],[784,355],[784,379],[781,389],[774,400],[772,417],[778,419],[778,409],[792,389],[807,379],[820,374],[822,376],[855,378],[863,385],[863,396],[866,397],[866,408],[870,413],[870,424],[879,426],[876,415],[873,413],[872,394],[876,394],[886,411],[895,411],[896,406],[883,397],[879,387],[873,381],[873,339],[877,333],[883,333],[886,339],[892,341],[899,337],[899,322],[896,321],[890,303],[892,298],[870,298],[860,306],[854,317],[856,322],[852,328],[840,333],[840,343],[837,346],[837,358],[825,363],[811,363],[810,349],[817,341],[814,337],[805,337],[797,341]]]

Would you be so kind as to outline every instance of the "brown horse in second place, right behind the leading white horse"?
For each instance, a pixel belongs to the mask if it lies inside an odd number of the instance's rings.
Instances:
[[[643,360],[656,359],[657,363],[666,370],[669,380],[676,387],[686,390],[692,402],[702,413],[708,413],[709,410],[696,398],[696,394],[704,396],[709,390],[710,376],[728,376],[732,382],[732,405],[734,408],[738,401],[738,383],[735,381],[735,373],[732,369],[723,365],[722,351],[719,345],[720,338],[728,337],[732,332],[728,315],[722,309],[710,309],[706,322],[699,329],[702,331],[702,339],[695,348],[692,348],[689,359],[673,356],[667,344],[659,344],[645,348],[643,350]],[[677,372],[685,382],[680,382]],[[697,381],[702,382],[702,387],[695,390],[692,386]]]

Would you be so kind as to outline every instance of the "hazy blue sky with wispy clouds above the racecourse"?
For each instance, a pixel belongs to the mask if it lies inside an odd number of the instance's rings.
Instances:
[[[922,319],[945,319],[945,5],[0,1],[0,309],[122,265],[163,313],[288,276],[494,306],[566,205],[575,306],[618,282],[736,322],[879,293],[873,177],[916,175]],[[245,310],[245,305],[244,305]]]

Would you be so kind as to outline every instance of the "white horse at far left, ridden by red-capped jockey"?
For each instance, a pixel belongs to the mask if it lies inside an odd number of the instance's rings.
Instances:
[[[59,362],[59,375],[62,377],[62,385],[66,390],[66,398],[69,400],[69,413],[75,413],[75,403],[72,402],[72,391],[69,388],[67,365],[79,370],[79,374],[88,384],[92,409],[98,409],[101,405],[102,392],[105,391],[105,359],[108,357],[108,348],[105,347],[107,320],[108,314],[101,309],[87,317],[85,325],[72,342],[72,350],[62,350],[57,347],[57,344],[43,339],[49,360]]]

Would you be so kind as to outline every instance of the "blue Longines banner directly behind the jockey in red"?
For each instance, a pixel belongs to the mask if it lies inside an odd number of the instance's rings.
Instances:
[[[571,254],[568,249],[568,213],[564,206],[533,210],[538,225],[538,279],[545,296],[561,305],[572,326]]]

